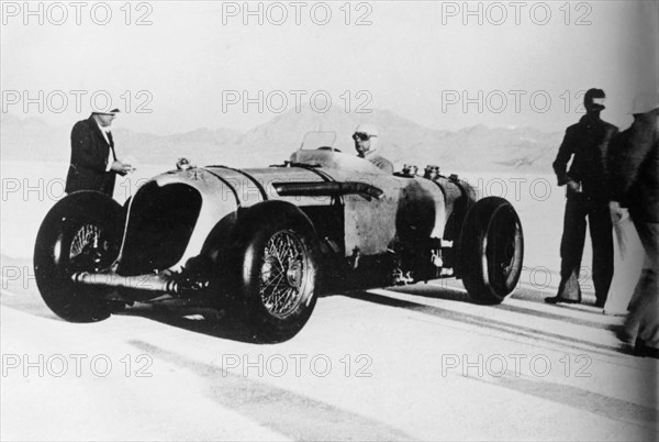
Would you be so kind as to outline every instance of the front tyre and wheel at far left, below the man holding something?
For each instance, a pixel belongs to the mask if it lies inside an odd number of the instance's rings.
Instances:
[[[102,299],[108,288],[76,285],[77,272],[101,272],[119,254],[123,209],[94,191],[74,192],[46,214],[34,247],[34,275],[42,298],[70,322],[107,319],[113,308]]]

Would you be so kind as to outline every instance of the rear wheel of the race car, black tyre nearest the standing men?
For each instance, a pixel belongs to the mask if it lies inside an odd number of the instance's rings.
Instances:
[[[500,303],[522,273],[524,234],[513,206],[488,197],[469,210],[460,234],[460,275],[471,299]]]

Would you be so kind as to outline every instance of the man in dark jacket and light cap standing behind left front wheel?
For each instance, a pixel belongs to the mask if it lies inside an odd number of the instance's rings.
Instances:
[[[78,121],[71,131],[71,162],[66,177],[67,194],[96,190],[112,197],[116,174],[126,175],[133,168],[116,158],[110,126],[119,109],[92,112]]]

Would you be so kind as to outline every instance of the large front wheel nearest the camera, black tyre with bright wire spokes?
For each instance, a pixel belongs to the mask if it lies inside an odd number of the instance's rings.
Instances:
[[[292,338],[316,302],[319,245],[311,221],[297,207],[266,201],[238,221],[234,253],[238,306],[261,342]]]

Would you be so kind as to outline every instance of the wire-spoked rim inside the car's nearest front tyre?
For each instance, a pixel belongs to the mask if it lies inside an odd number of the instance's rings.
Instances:
[[[298,309],[309,268],[309,254],[291,230],[276,232],[268,240],[260,268],[259,296],[268,312],[286,318]]]

